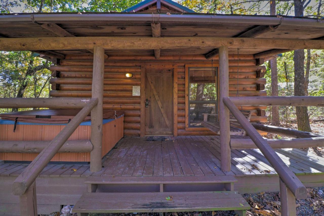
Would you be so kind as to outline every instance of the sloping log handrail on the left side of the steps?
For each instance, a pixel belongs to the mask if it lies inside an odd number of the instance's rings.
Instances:
[[[56,135],[50,144],[26,167],[12,184],[14,195],[23,195],[31,186],[44,167],[63,146],[75,129],[98,103],[98,98],[92,98],[82,110]]]

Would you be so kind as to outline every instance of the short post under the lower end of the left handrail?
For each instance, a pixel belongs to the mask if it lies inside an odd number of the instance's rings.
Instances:
[[[37,216],[36,181],[19,196],[20,215]]]

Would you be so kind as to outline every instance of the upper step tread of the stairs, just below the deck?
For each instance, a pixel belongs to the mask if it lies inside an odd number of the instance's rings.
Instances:
[[[232,175],[219,176],[89,176],[86,184],[208,184],[235,183]]]

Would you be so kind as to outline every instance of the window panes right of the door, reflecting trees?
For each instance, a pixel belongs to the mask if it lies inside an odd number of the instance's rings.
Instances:
[[[217,67],[188,67],[187,127],[202,127],[203,114],[213,114],[208,121],[217,120],[217,81]]]

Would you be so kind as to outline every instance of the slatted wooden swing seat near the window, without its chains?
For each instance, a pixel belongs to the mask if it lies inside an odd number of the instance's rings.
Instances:
[[[251,111],[250,110],[241,110],[241,113],[250,121],[251,118]],[[216,134],[219,134],[220,131],[220,124],[218,121],[216,122],[209,122],[208,116],[209,115],[216,115],[216,114],[203,114],[203,121],[202,126],[210,129],[211,131],[215,132]],[[234,115],[229,112],[229,126],[230,126],[230,135],[239,135],[239,136],[245,136],[246,132],[242,128],[242,126],[237,122]]]

